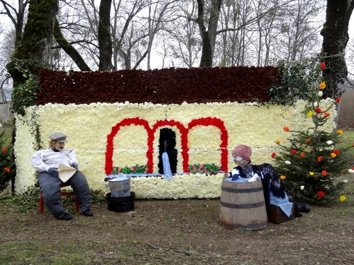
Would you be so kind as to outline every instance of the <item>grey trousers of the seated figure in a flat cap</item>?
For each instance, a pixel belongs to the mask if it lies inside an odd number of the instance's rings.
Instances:
[[[64,207],[60,199],[60,184],[62,181],[59,177],[53,177],[48,172],[38,172],[38,181],[40,183],[40,192],[43,196],[45,206],[55,218],[64,216]],[[81,212],[91,210],[90,188],[86,177],[81,171],[76,173],[67,181],[74,190],[74,194],[79,201]]]

